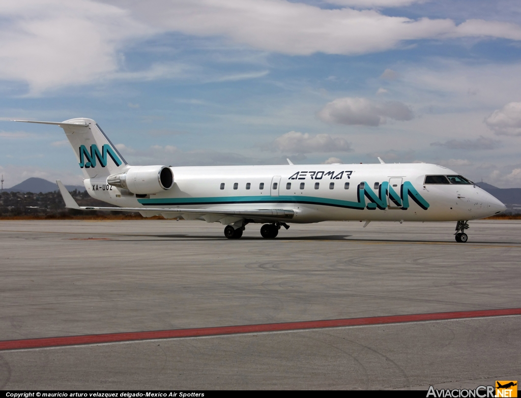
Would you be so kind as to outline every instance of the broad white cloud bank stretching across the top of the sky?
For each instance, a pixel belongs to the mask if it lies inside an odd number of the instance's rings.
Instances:
[[[414,0],[333,0],[347,6],[390,7]],[[109,4],[106,4],[109,3]],[[521,40],[513,23],[410,19],[375,9],[323,9],[285,0],[4,0],[0,8],[0,79],[26,82],[31,95],[108,79],[184,76],[193,67],[156,63],[125,70],[123,49],[154,34],[225,37],[254,49],[289,55],[354,55],[396,48],[411,40],[503,37]],[[267,71],[224,76],[251,79]],[[384,72],[385,73],[385,72]],[[382,76],[383,77],[383,76]]]

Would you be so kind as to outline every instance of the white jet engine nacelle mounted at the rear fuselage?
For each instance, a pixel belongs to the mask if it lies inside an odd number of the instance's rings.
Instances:
[[[173,173],[167,166],[133,166],[125,173],[109,175],[107,184],[133,194],[157,194],[173,186]]]

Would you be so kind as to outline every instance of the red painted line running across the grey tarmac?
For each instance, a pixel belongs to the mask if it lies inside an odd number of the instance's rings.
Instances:
[[[447,320],[463,318],[481,318],[505,315],[521,315],[521,308],[485,311],[439,312],[432,314],[375,316],[369,318],[348,318],[311,320],[306,322],[288,322],[280,324],[220,326],[195,329],[154,330],[126,333],[106,333],[104,335],[47,337],[41,339],[23,339],[0,341],[1,350],[20,350],[30,348],[55,347],[62,345],[99,344],[122,341],[173,339],[180,337],[201,337],[234,335],[238,333],[255,333],[283,330],[303,330],[318,328],[334,328],[343,326],[383,325],[404,322],[421,322],[426,320]]]

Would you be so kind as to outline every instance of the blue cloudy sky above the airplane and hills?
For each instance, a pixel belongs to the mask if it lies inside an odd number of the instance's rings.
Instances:
[[[3,0],[0,173],[80,185],[91,118],[133,165],[427,162],[521,187],[518,0]]]

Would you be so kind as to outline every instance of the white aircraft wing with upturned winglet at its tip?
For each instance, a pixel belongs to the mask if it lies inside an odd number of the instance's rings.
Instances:
[[[142,208],[142,207],[83,207],[76,203],[76,200],[70,195],[65,185],[57,179],[56,184],[60,190],[61,196],[64,198],[65,207],[77,210],[100,210],[100,211],[138,211],[140,213],[177,213],[177,214],[200,214],[203,215],[223,215],[223,216],[239,216],[241,218],[276,218],[276,219],[292,219],[295,212],[293,210],[284,209],[258,209],[258,210],[216,210],[216,209],[168,209],[168,208]],[[217,221],[217,220],[216,220]]]

